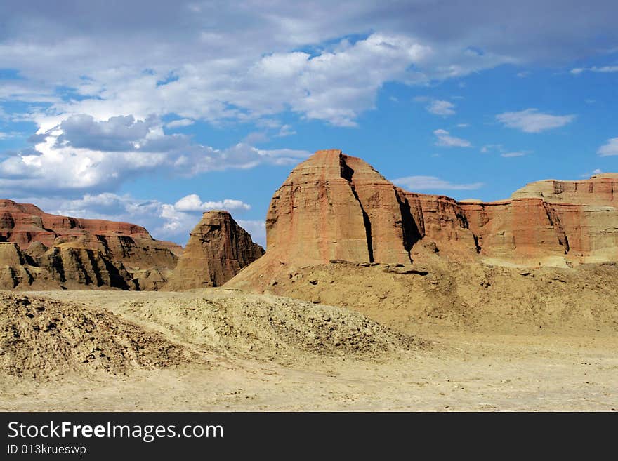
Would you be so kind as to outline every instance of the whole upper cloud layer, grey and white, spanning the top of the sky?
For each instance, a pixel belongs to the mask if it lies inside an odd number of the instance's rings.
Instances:
[[[291,109],[352,126],[389,81],[424,84],[508,62],[564,62],[614,48],[618,39],[611,2],[587,11],[585,24],[577,1],[561,1],[560,18],[554,1],[533,0],[449,8],[355,0],[82,3],[1,2],[0,56],[19,78],[3,81],[0,99],[51,104],[37,119],[177,114],[216,123]]]

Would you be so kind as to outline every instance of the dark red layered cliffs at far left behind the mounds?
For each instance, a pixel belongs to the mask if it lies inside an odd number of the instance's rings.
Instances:
[[[178,246],[127,222],[44,213],[0,200],[0,288],[162,286]]]

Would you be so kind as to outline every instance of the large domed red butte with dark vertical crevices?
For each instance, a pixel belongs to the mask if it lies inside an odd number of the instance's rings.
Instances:
[[[412,262],[423,239],[475,255],[475,236],[459,203],[396,187],[356,157],[319,151],[298,165],[272,197],[268,258],[322,263]]]

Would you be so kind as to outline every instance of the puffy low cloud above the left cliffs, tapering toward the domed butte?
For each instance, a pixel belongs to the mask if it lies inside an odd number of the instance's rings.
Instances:
[[[215,149],[191,142],[186,135],[164,133],[154,116],[103,121],[70,116],[41,133],[36,142],[34,149],[13,152],[0,161],[0,194],[113,192],[126,180],[155,171],[192,176],[261,164],[289,165],[310,155],[244,143]]]

